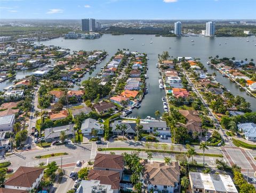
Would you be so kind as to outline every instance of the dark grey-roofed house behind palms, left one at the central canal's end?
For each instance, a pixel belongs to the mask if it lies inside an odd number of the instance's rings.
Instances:
[[[116,129],[116,125],[125,125],[126,130],[124,131],[125,134],[128,135],[134,135],[136,133],[136,121],[131,121],[131,120],[116,120],[113,123],[112,126],[112,132],[114,134],[121,134],[123,133],[121,130]]]

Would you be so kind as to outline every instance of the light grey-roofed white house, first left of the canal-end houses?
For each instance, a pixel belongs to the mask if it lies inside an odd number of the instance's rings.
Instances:
[[[103,124],[91,118],[83,121],[81,131],[84,136],[91,135],[93,129],[97,130],[99,135],[103,134]]]

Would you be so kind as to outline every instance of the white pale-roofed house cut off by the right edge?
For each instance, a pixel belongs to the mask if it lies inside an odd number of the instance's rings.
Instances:
[[[241,123],[237,125],[237,128],[244,134],[244,137],[247,141],[256,141],[255,123]]]

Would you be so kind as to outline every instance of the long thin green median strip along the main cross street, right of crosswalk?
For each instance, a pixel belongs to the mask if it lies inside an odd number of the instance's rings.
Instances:
[[[111,150],[140,150],[142,152],[157,152],[157,153],[167,153],[167,154],[183,154],[184,152],[171,151],[171,150],[160,150],[160,149],[140,149],[140,148],[131,148],[131,147],[109,147],[109,148],[98,148],[98,151],[111,151]],[[203,153],[197,153],[197,155],[203,156]],[[222,154],[204,154],[209,157],[223,157]]]

